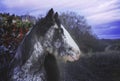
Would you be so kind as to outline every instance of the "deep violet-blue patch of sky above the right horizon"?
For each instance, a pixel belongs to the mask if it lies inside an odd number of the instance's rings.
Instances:
[[[93,31],[99,38],[120,38],[120,28],[115,23],[97,26]]]

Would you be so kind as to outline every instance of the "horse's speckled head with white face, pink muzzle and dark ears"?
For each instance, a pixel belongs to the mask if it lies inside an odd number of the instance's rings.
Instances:
[[[47,31],[44,34],[42,46],[46,52],[62,57],[66,61],[75,61],[80,57],[80,49],[61,24],[58,13],[51,9],[43,19]]]

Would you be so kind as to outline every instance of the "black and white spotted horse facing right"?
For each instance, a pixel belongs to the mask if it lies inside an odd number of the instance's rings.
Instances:
[[[78,45],[61,24],[58,13],[50,9],[18,46],[10,63],[9,81],[59,81],[56,57],[73,62],[80,55]]]

